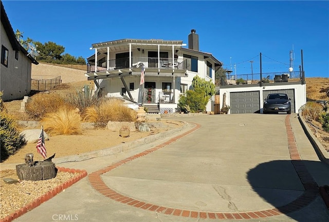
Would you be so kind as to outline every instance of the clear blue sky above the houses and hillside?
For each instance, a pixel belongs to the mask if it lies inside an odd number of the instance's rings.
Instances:
[[[329,1],[3,1],[16,31],[87,58],[93,43],[182,40],[195,29],[199,49],[236,74],[294,70],[329,78]],[[235,68],[234,68],[235,64]],[[234,72],[233,72],[234,73]]]

